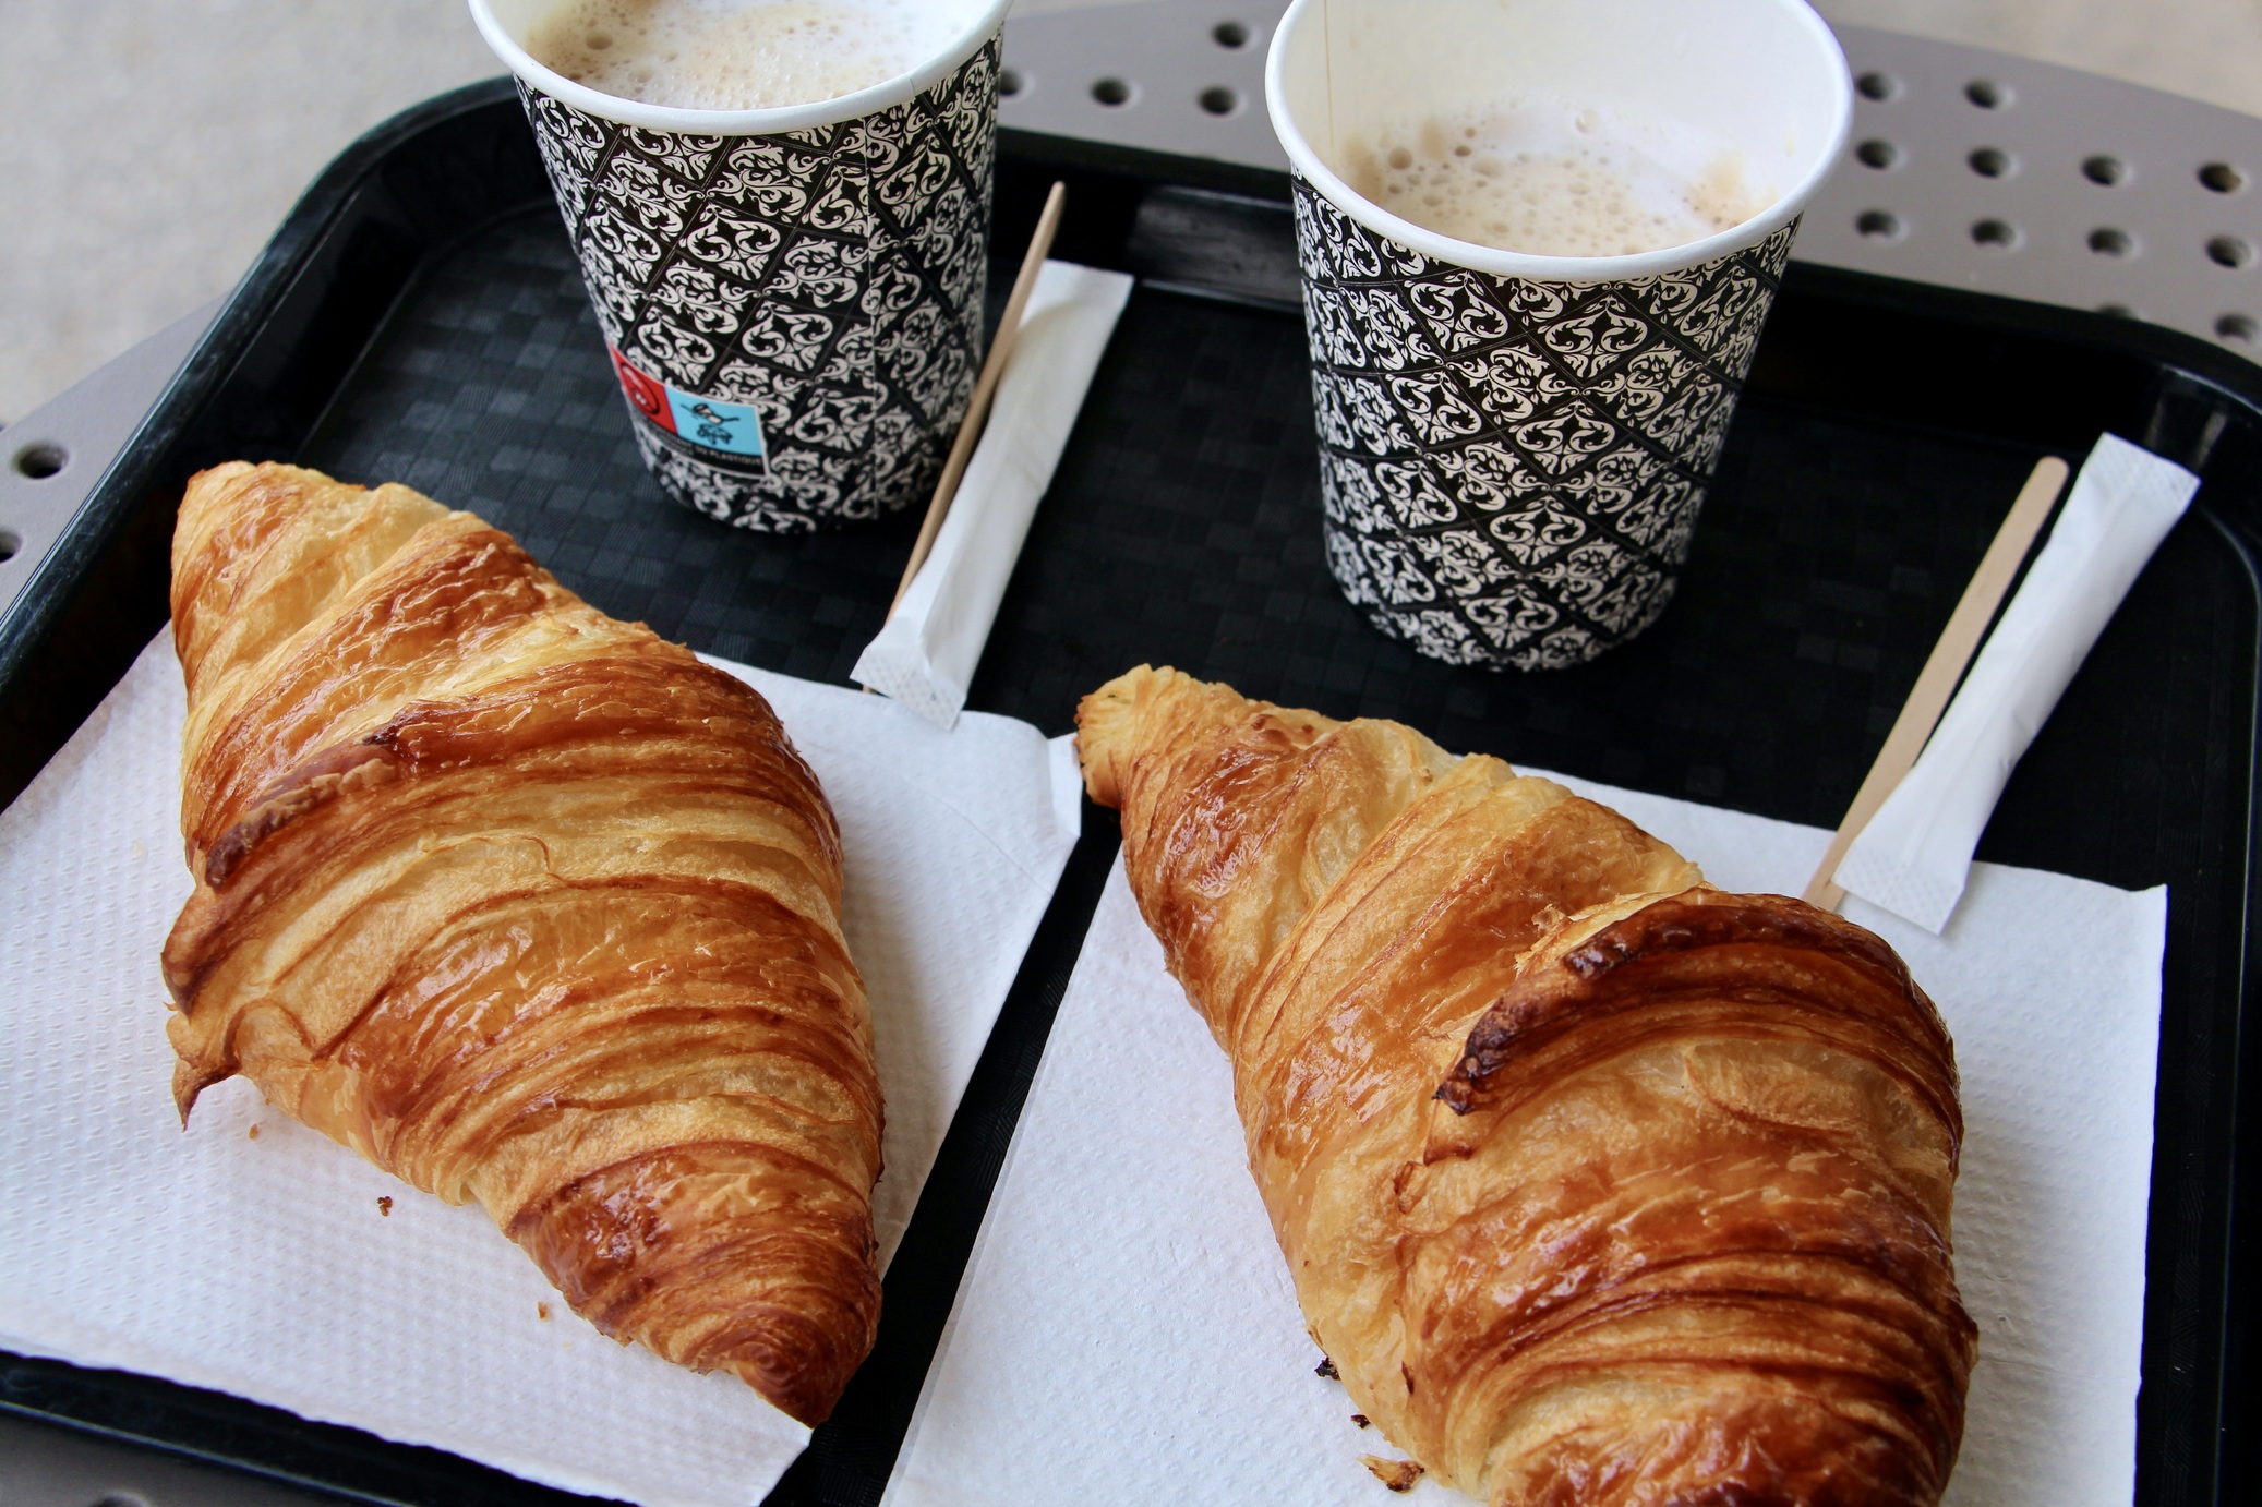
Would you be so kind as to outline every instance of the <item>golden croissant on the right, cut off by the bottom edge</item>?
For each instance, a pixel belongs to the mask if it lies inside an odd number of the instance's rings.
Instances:
[[[1884,941],[1393,722],[1140,668],[1077,726],[1391,1441],[1502,1507],[1939,1500],[1963,1129]]]

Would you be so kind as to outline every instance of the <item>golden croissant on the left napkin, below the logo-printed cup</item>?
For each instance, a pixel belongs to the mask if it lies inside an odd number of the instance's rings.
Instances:
[[[880,1312],[839,830],[769,704],[407,486],[228,464],[172,545],[174,1095],[242,1073],[618,1340],[821,1421]]]

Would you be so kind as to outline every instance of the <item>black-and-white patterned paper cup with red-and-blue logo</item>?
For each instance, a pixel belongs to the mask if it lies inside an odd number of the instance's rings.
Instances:
[[[805,532],[923,498],[982,364],[1011,0],[873,88],[760,111],[618,100],[527,54],[552,0],[470,0],[518,75],[636,446],[676,502]]]

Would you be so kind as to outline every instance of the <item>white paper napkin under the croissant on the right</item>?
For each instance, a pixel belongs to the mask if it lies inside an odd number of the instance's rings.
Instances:
[[[1830,837],[1565,783],[1728,889],[1796,889]],[[2165,889],[1977,864],[1945,937],[1850,914],[1907,957],[1963,1073],[1957,1281],[1982,1340],[1948,1502],[2126,1507]],[[1375,1507],[1359,1455],[1398,1453],[1316,1362],[1226,1057],[1117,864],[887,1502]]]

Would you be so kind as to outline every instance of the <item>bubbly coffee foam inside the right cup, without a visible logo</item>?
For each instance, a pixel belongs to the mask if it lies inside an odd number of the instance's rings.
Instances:
[[[1384,122],[1341,143],[1344,181],[1452,240],[1527,256],[1631,256],[1733,229],[1776,190],[1678,122],[1518,97]]]

